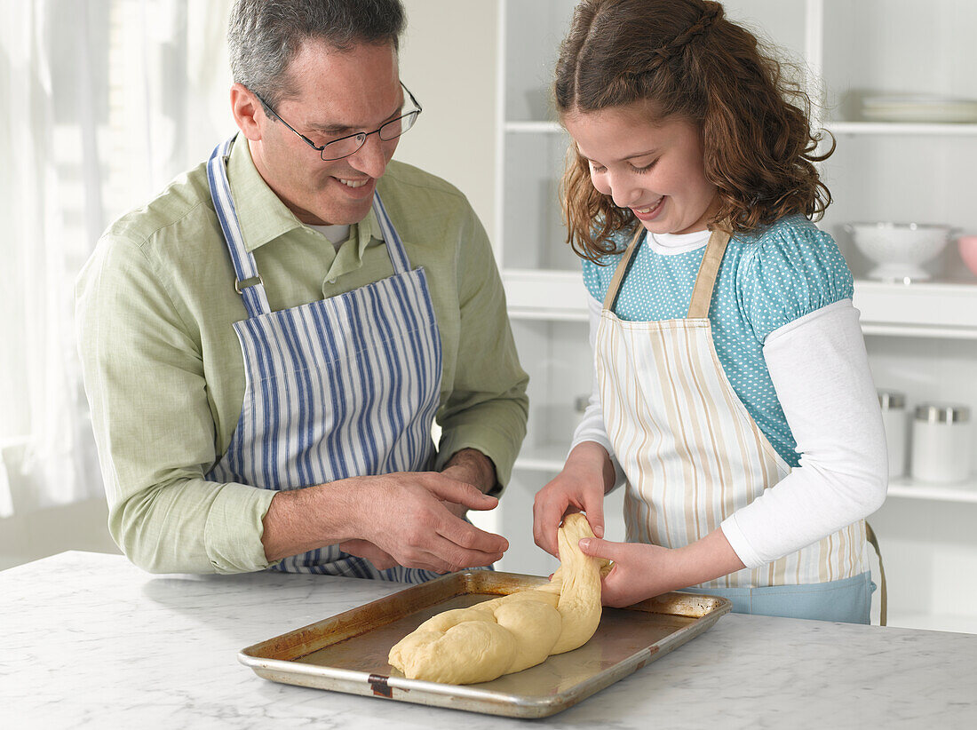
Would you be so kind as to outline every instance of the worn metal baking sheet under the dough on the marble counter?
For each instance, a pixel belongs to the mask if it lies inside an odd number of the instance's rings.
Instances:
[[[435,614],[545,582],[513,573],[454,573],[249,646],[237,658],[275,682],[510,717],[545,717],[654,662],[732,608],[725,598],[685,593],[665,593],[626,609],[605,608],[597,632],[579,649],[481,684],[407,679],[387,664],[391,647]]]

